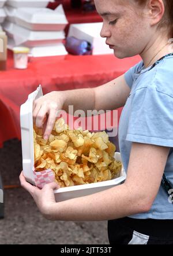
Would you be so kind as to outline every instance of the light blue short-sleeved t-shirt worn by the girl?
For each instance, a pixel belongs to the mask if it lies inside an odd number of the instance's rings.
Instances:
[[[170,147],[164,173],[173,185],[173,56],[163,58],[152,69],[143,68],[141,61],[125,73],[131,92],[119,122],[123,166],[127,171],[132,142]],[[173,219],[173,204],[160,186],[151,210],[129,217]]]

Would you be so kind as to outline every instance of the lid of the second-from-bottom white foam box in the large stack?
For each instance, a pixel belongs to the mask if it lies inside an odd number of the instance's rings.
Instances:
[[[3,29],[9,35],[13,35],[16,45],[20,45],[26,41],[65,39],[64,31],[30,31],[8,21],[3,23]]]

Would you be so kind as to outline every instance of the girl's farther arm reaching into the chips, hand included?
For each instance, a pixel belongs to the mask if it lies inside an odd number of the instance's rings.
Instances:
[[[112,110],[125,105],[130,93],[130,87],[125,81],[125,75],[95,88],[76,89],[51,92],[33,102],[33,122],[42,127],[47,122],[44,137],[50,136],[57,118],[58,110],[69,112],[69,105],[73,110]]]

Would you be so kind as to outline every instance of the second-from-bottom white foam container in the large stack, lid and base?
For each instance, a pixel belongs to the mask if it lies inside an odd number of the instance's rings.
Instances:
[[[27,47],[54,45],[65,39],[64,31],[30,31],[9,21],[5,21],[2,26],[7,35],[14,39],[16,46],[21,44]]]

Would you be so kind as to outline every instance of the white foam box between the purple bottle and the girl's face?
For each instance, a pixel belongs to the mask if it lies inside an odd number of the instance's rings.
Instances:
[[[101,38],[100,31],[103,22],[71,24],[68,36],[86,40],[93,45],[93,54],[113,54],[114,50],[106,45],[106,39]]]

